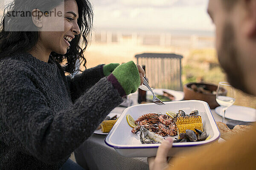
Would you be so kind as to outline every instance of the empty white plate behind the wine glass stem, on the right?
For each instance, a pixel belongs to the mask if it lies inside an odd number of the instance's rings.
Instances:
[[[218,106],[215,108],[215,113],[222,117],[222,108]],[[232,105],[227,108],[225,118],[238,120],[243,122],[255,122],[256,121],[256,110],[253,108],[247,108],[244,106]]]

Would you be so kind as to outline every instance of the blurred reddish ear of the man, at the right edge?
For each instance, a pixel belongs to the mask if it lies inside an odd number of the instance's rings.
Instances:
[[[245,33],[247,37],[256,36],[256,0],[244,0],[247,8],[247,17],[245,21]]]

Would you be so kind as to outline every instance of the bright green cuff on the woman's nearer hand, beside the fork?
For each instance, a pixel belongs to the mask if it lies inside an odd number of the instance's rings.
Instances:
[[[134,93],[140,86],[140,74],[133,61],[119,65],[112,74],[122,86],[126,95]]]

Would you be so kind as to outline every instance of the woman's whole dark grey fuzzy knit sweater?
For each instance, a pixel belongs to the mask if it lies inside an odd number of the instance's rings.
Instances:
[[[71,79],[52,59],[0,59],[0,170],[59,170],[122,101],[102,65]]]

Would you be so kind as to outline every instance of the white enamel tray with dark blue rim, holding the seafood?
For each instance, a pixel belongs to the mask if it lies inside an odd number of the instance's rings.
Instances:
[[[186,151],[189,150],[189,148],[202,147],[219,138],[220,132],[218,131],[218,127],[212,117],[212,113],[207,102],[200,100],[186,100],[165,102],[165,104],[166,105],[160,106],[154,103],[149,103],[126,108],[111,131],[108,133],[108,136],[105,138],[105,143],[108,144],[108,146],[113,147],[119,154],[125,157],[156,156],[157,147],[160,144],[141,144],[139,136],[131,132],[132,128],[126,121],[126,115],[130,114],[134,119],[137,119],[145,113],[165,113],[166,111],[177,112],[178,110],[183,110],[185,113],[198,110],[199,114],[202,116],[204,130],[211,136],[211,138],[207,141],[200,142],[174,143],[169,156],[174,156],[181,150]]]

